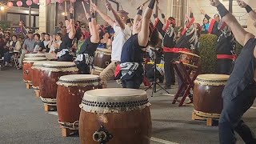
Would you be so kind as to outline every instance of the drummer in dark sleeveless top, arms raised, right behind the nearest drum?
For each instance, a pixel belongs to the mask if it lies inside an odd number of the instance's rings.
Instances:
[[[133,35],[122,47],[121,72],[122,87],[138,89],[143,81],[143,54],[146,46],[158,44],[158,30],[150,23],[156,0],[150,0],[142,16],[142,6],[134,18]]]

